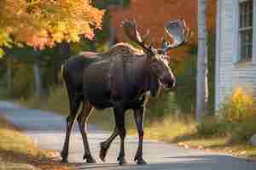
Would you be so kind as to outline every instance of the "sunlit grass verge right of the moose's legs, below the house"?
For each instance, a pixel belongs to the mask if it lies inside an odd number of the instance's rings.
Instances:
[[[255,158],[256,147],[248,142],[252,134],[256,133],[255,122],[218,122],[212,121],[215,118],[211,117],[198,124],[190,117],[193,116],[165,116],[160,122],[152,122],[145,127],[145,137],[177,143],[186,148]],[[136,134],[133,129],[131,134]]]

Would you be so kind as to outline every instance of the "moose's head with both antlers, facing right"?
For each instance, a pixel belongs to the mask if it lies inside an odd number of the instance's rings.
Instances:
[[[186,26],[185,20],[175,20],[167,22],[165,25],[166,33],[172,37],[172,43],[162,39],[162,47],[154,48],[152,43],[147,45],[145,42],[148,39],[148,32],[141,37],[139,31],[137,31],[137,24],[135,20],[125,20],[122,23],[125,31],[125,35],[136,42],[144,53],[147,55],[150,71],[154,77],[163,85],[164,88],[172,89],[175,87],[176,80],[169,66],[169,56],[167,52],[173,48],[177,48],[183,45],[189,40],[191,31]]]

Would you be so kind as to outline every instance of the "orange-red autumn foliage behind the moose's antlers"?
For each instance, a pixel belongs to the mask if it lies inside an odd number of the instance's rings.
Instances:
[[[207,1],[207,26],[210,33],[215,30],[216,0]],[[185,19],[194,32],[190,45],[196,44],[197,39],[197,0],[131,0],[128,8],[114,7],[111,10],[112,24],[116,28],[118,41],[125,41],[120,27],[125,19],[136,19],[138,29],[146,33],[150,29],[150,40],[160,47],[161,37],[167,37],[164,25],[169,20]],[[170,40],[170,38],[169,38]],[[171,40],[170,40],[171,41]],[[172,52],[178,57],[183,57],[190,46],[179,48]]]

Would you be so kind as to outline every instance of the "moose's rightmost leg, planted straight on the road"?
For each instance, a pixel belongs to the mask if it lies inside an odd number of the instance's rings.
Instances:
[[[143,159],[143,116],[144,116],[144,106],[141,106],[139,109],[134,110],[134,119],[137,126],[137,133],[138,133],[138,147],[137,153],[134,157],[134,161],[137,161],[137,165],[147,164],[146,161]]]

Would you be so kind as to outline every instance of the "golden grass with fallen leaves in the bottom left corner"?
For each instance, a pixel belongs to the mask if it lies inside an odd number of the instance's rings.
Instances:
[[[73,169],[72,165],[61,165],[55,157],[55,151],[38,148],[32,139],[3,116],[0,116],[0,139],[1,170]]]

